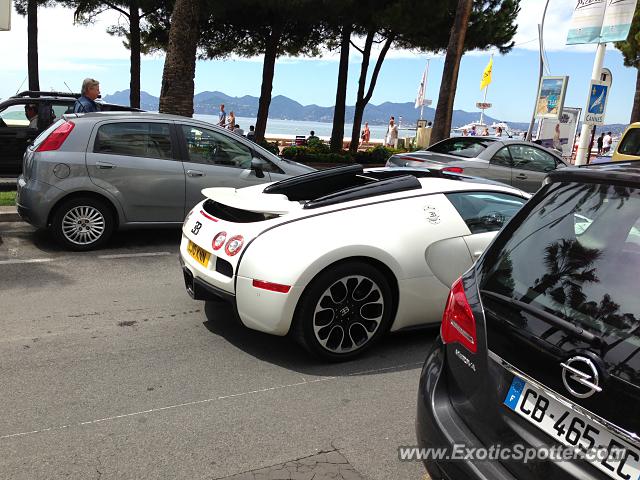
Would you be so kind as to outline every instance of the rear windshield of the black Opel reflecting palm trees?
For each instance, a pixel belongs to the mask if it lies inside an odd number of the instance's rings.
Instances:
[[[616,360],[626,365],[619,375],[638,384],[640,189],[552,184],[523,213],[523,223],[512,233],[507,227],[483,258],[480,288],[530,304],[618,347]]]

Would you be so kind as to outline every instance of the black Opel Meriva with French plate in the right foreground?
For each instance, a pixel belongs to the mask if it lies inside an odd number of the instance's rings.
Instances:
[[[418,394],[431,477],[637,480],[639,279],[640,168],[551,173],[451,289]]]

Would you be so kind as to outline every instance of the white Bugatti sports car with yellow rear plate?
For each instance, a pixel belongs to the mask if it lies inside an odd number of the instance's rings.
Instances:
[[[447,172],[360,165],[202,193],[182,228],[189,294],[227,299],[247,327],[291,333],[327,360],[440,322],[451,284],[528,198]]]

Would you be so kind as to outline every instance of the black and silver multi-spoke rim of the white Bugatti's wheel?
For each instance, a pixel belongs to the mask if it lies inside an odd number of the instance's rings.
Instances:
[[[349,353],[363,347],[380,327],[384,298],[368,277],[343,277],[327,288],[313,313],[316,340],[332,353]]]

